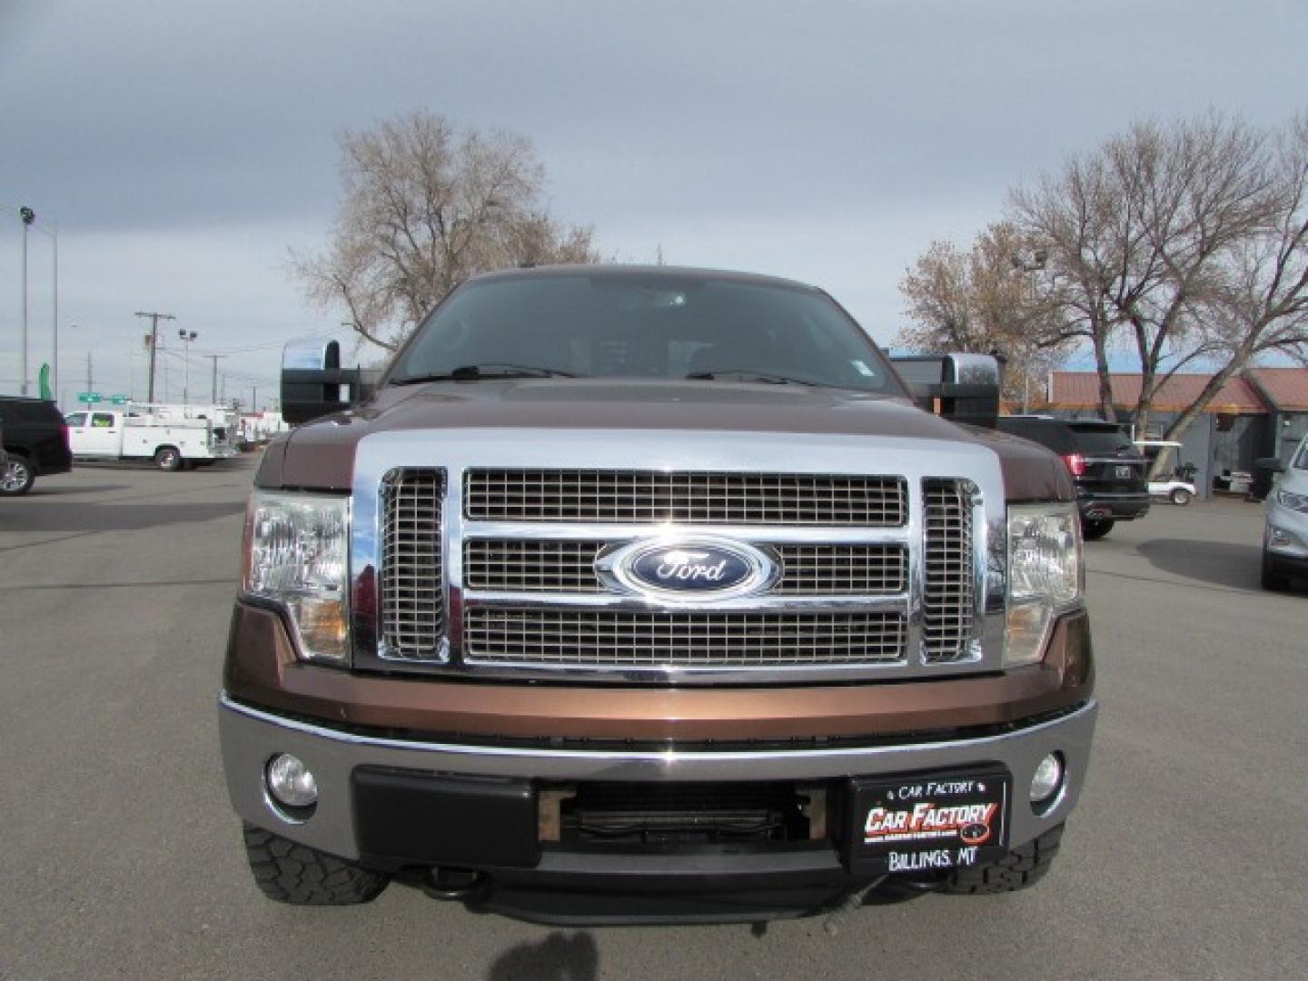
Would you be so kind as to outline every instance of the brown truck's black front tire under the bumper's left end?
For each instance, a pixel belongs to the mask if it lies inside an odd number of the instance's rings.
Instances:
[[[246,858],[260,892],[294,906],[349,906],[371,903],[391,878],[385,872],[297,845],[272,832],[245,825]]]

